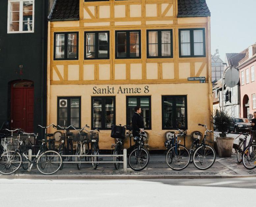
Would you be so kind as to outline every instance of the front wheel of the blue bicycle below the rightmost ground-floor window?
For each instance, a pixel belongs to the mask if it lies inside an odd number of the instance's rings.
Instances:
[[[173,146],[167,151],[165,161],[172,170],[183,170],[190,162],[189,151],[183,145]]]

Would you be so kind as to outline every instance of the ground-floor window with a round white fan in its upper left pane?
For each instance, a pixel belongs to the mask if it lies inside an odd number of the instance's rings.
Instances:
[[[61,127],[81,127],[81,97],[58,97],[57,124]]]

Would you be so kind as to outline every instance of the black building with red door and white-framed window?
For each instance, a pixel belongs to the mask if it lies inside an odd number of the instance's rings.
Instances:
[[[47,10],[47,0],[0,1],[0,124],[27,132],[45,125]]]

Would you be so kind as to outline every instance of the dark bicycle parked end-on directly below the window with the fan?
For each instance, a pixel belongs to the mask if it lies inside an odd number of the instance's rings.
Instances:
[[[61,144],[59,146],[59,150],[58,152],[63,156],[65,154],[67,155],[72,155],[73,154],[73,133],[70,132],[70,128],[71,127],[76,127],[75,125],[70,125],[69,127],[60,127],[59,125],[57,125],[57,127],[61,128],[62,130],[64,130],[63,136],[61,136]],[[66,138],[67,138],[67,147],[66,147]],[[63,157],[63,160],[65,160],[66,157]],[[72,161],[72,157],[68,157],[68,161]],[[62,166],[60,168],[60,170],[63,169],[63,163]]]

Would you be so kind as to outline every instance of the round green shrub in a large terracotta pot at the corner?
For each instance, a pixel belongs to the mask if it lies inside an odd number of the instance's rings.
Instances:
[[[213,123],[221,132],[216,138],[217,148],[220,157],[231,157],[234,138],[227,137],[227,132],[232,123],[231,117],[225,111],[217,111],[213,117]]]

